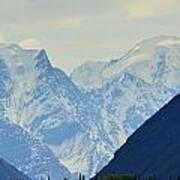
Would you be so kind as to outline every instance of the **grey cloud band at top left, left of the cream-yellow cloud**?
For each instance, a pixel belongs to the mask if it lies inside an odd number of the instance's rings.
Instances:
[[[0,5],[0,26],[26,24],[27,20],[34,24],[49,19],[94,16],[114,8],[109,0],[0,0]]]

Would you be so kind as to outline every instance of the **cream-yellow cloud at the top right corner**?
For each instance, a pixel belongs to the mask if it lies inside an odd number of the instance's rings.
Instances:
[[[178,0],[129,0],[125,3],[128,16],[135,19],[168,15],[175,12],[178,7]]]

